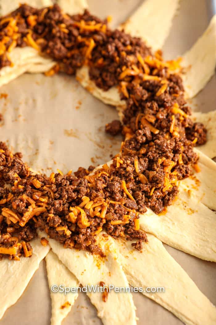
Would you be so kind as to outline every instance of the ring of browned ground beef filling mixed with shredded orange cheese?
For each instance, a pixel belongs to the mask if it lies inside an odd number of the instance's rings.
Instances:
[[[142,250],[139,214],[147,207],[160,214],[172,203],[179,180],[198,169],[194,145],[206,142],[204,126],[190,119],[179,60],[165,62],[106,20],[88,11],[70,16],[57,5],[21,5],[1,18],[0,44],[0,68],[11,64],[14,47],[32,46],[57,62],[47,75],[74,74],[86,64],[98,87],[118,86],[126,103],[122,123],[106,125],[109,134],[124,136],[120,154],[93,173],[90,166],[74,175],[33,175],[20,153],[0,143],[0,257],[31,256],[37,228],[64,247],[101,255],[102,230],[136,240],[132,246]]]

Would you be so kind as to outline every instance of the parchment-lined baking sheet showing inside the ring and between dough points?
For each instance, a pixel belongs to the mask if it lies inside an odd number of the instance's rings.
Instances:
[[[5,1],[5,0],[1,0]],[[141,3],[138,0],[89,0],[91,12],[100,17],[113,16],[117,26]],[[208,25],[204,0],[181,0],[173,29],[165,43],[165,58],[184,53]],[[215,77],[190,104],[195,110],[215,109]],[[118,153],[121,137],[112,138],[104,132],[105,123],[118,118],[113,107],[104,105],[85,91],[72,77],[25,74],[0,89],[0,112],[4,122],[1,140],[13,151],[22,151],[24,160],[37,171],[51,173],[88,167],[110,160]],[[168,252],[186,270],[199,289],[216,305],[216,264],[166,246]],[[153,284],[154,286],[155,284]],[[163,283],[158,284],[163,286]],[[180,325],[182,322],[163,307],[141,293],[133,293],[138,324]],[[202,306],[200,306],[201,308]],[[48,325],[51,302],[46,279],[45,262],[31,279],[18,302],[6,311],[1,325]],[[84,293],[79,294],[63,325],[101,324],[96,309]],[[207,324],[208,325],[208,324]]]

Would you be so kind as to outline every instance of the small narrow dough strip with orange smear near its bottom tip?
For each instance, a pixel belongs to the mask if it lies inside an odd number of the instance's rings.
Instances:
[[[68,292],[67,294],[64,294],[61,292],[52,292],[51,286],[53,284],[58,286],[63,284],[64,287],[69,288],[79,287],[79,282],[52,251],[47,254],[45,259],[52,303],[51,325],[61,325],[62,320],[71,311],[71,307],[74,305],[78,293]]]

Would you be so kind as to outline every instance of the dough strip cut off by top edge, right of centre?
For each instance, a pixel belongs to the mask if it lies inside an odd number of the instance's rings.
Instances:
[[[146,0],[121,28],[141,37],[154,52],[163,47],[178,6],[179,0]]]

